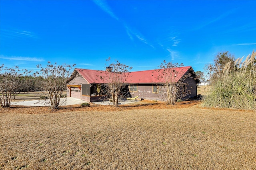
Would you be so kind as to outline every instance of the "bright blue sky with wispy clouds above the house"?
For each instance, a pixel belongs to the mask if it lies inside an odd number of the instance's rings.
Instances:
[[[256,49],[255,6],[256,0],[0,0],[0,64],[104,70],[118,60],[138,71],[165,60],[204,71],[220,52],[238,58]]]

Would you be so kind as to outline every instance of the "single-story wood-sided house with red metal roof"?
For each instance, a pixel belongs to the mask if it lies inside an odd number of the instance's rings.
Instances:
[[[177,82],[185,75],[190,74],[184,83],[184,91],[190,90],[190,94],[184,98],[193,98],[197,95],[197,85],[200,80],[196,76],[191,66],[168,68],[173,73],[172,77]],[[159,76],[163,70],[145,70],[130,72],[126,79],[127,89],[124,91],[124,96],[148,99],[148,100],[162,100],[164,98],[164,88],[161,84],[164,82],[164,77]],[[101,94],[102,85],[106,83],[106,79],[102,78],[111,72],[111,68],[106,70],[88,70],[76,68],[70,78],[67,80],[67,97],[74,97],[84,100],[86,102],[98,102],[104,99]]]

